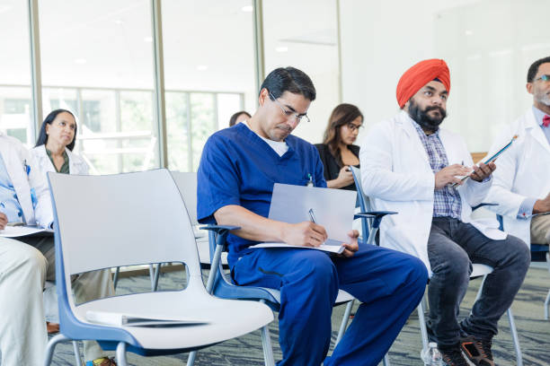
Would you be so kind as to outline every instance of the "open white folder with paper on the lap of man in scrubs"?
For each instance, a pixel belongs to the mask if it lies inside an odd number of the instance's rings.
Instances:
[[[324,227],[329,239],[315,248],[273,242],[250,248],[309,248],[342,253],[342,243],[350,242],[348,232],[356,200],[355,191],[275,183],[268,218],[288,223],[315,222]]]

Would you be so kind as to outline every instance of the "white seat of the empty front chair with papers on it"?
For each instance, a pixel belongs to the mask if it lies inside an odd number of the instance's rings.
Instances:
[[[273,320],[271,309],[258,301],[224,300],[206,293],[187,292],[147,292],[90,301],[77,306],[75,316],[81,322],[93,325],[97,324],[88,321],[85,316],[89,310],[143,318],[208,321],[207,324],[192,326],[117,327],[133,336],[136,343],[131,345],[149,350],[177,350],[217,344],[259,329]],[[61,331],[65,333],[64,329]]]

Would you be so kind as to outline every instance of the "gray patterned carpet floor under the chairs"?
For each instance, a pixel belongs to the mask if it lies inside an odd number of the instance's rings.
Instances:
[[[184,283],[185,279],[182,273],[167,273],[163,274],[159,288],[160,290],[173,290],[182,288]],[[461,306],[461,316],[464,317],[468,314],[480,283],[480,279],[473,280],[470,283],[466,299]],[[148,276],[122,278],[117,288],[117,293],[146,292],[150,289],[150,285]],[[540,268],[530,268],[527,279],[512,305],[516,327],[519,332],[523,360],[526,366],[550,365],[550,347],[548,346],[550,344],[550,321],[544,320],[543,317],[543,302],[549,287],[550,274],[548,274],[548,271]],[[336,339],[343,310],[343,306],[334,308],[333,310],[333,340]],[[281,357],[277,342],[279,336],[277,321],[273,321],[270,327],[275,360],[277,361]],[[506,316],[501,318],[499,327],[500,332],[494,338],[492,348],[495,362],[500,366],[516,365],[514,348],[510,336],[510,326]],[[368,329],[365,331],[368,331]],[[390,362],[392,365],[420,366],[422,365],[420,350],[421,336],[418,316],[414,312],[390,349]],[[332,352],[332,349],[330,352]],[[187,354],[145,358],[129,353],[128,359],[132,365],[183,365],[187,360]],[[74,365],[74,360],[72,345],[69,343],[59,344],[52,364]],[[195,364],[262,365],[260,331],[201,350]]]

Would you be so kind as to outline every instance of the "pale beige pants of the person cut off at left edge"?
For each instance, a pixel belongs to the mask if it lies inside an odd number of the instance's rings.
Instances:
[[[42,291],[46,280],[55,280],[54,253],[53,238],[0,238],[2,366],[38,366],[44,362],[48,335]],[[79,274],[72,285],[76,303],[114,295],[109,270]],[[96,342],[84,342],[85,361],[104,354]]]

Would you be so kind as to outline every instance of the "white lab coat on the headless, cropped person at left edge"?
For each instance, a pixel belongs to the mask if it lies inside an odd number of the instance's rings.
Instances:
[[[12,179],[17,200],[22,208],[25,223],[47,228],[53,222],[53,211],[49,189],[36,162],[28,150],[14,137],[0,133],[0,153],[5,169]],[[27,174],[27,167],[30,168]],[[37,198],[32,207],[31,188]]]

